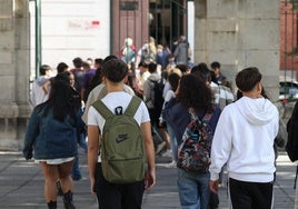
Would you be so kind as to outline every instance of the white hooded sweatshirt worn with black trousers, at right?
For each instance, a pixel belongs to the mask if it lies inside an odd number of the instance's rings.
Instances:
[[[217,180],[227,162],[229,177],[240,181],[274,180],[274,141],[278,110],[268,99],[242,97],[220,115],[211,148],[210,180]]]

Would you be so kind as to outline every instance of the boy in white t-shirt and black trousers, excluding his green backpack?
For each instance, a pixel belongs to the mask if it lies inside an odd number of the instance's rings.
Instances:
[[[125,81],[128,76],[127,64],[119,59],[109,60],[102,67],[102,82],[108,90],[108,94],[101,99],[102,102],[111,112],[115,112],[116,108],[119,108],[119,106],[122,112],[125,112],[132,98],[132,96],[123,91]],[[103,130],[105,119],[92,106],[89,108],[88,166],[91,192],[97,196],[99,208],[141,208],[143,190],[152,188],[156,183],[151,123],[147,107],[143,102],[140,103],[133,118],[141,127],[145,140],[148,162],[145,180],[132,183],[111,183],[103,178],[101,160],[98,158],[98,151],[100,149],[99,138]]]

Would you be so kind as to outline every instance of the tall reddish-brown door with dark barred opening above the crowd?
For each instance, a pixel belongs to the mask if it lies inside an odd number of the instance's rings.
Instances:
[[[111,49],[120,57],[127,38],[139,50],[155,38],[156,43],[168,43],[187,37],[187,0],[115,0],[111,1]]]

